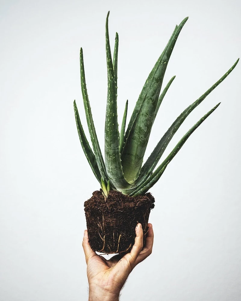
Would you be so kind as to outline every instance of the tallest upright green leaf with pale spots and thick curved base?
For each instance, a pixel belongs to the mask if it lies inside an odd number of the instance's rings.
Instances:
[[[118,190],[128,188],[130,187],[130,185],[124,178],[121,166],[121,156],[119,149],[119,130],[117,122],[117,94],[108,34],[108,16],[109,12],[106,18],[105,36],[108,73],[108,92],[105,115],[105,167],[108,178],[110,178],[110,181]]]

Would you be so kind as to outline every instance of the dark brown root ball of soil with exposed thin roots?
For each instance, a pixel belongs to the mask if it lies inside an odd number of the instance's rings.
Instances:
[[[145,244],[149,214],[154,202],[150,193],[130,197],[111,190],[105,198],[102,190],[94,191],[84,203],[92,250],[106,254],[129,252],[134,244],[138,223],[142,224]]]

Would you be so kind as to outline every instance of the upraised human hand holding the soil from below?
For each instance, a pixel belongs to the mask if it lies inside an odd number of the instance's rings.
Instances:
[[[135,243],[130,253],[122,253],[107,260],[97,255],[90,247],[87,230],[84,231],[83,249],[87,263],[87,277],[89,281],[89,301],[118,301],[121,288],[133,268],[152,253],[153,229],[149,230],[143,248],[143,231],[141,224],[136,226]]]

